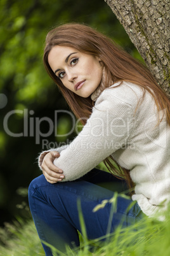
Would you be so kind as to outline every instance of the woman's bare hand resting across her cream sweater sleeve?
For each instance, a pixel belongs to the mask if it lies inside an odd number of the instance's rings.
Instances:
[[[60,157],[60,153],[57,151],[49,152],[44,156],[41,164],[42,173],[49,183],[56,183],[64,178],[63,171],[53,164],[53,160],[57,157]]]

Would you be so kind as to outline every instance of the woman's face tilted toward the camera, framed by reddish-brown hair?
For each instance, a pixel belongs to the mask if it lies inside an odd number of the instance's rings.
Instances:
[[[63,85],[81,97],[89,97],[100,85],[103,66],[98,57],[68,46],[53,46],[49,66]]]

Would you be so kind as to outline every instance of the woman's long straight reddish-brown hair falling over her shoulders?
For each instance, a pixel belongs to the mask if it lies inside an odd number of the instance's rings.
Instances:
[[[49,31],[46,37],[46,46],[44,48],[44,66],[49,76],[60,88],[63,96],[69,104],[71,110],[77,118],[91,115],[93,101],[91,97],[82,98],[71,92],[63,86],[60,78],[58,78],[48,63],[48,54],[55,45],[70,46],[79,52],[87,53],[100,57],[105,67],[105,87],[109,87],[110,81],[115,82],[131,82],[143,89],[143,96],[146,90],[154,97],[157,111],[166,110],[167,122],[170,125],[170,102],[165,92],[160,89],[155,82],[154,77],[148,69],[138,60],[134,59],[127,52],[116,46],[114,41],[100,32],[82,24],[65,24]],[[86,124],[86,118],[82,118],[82,124]],[[160,118],[158,122],[161,122]],[[117,168],[112,164],[112,156],[104,160],[108,170],[115,176],[121,176],[127,182],[129,187],[133,186],[129,171],[121,168],[117,164]]]

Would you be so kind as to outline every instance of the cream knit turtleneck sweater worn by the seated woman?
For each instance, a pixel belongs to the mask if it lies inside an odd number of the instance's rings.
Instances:
[[[112,155],[136,184],[132,199],[152,216],[166,210],[170,201],[170,128],[165,115],[155,127],[157,108],[148,92],[140,101],[140,87],[118,84],[93,93],[96,103],[82,131],[70,145],[51,149],[60,152],[54,164],[63,170],[63,181],[72,181]],[[159,114],[162,117],[163,111]],[[46,152],[39,157],[39,167]]]

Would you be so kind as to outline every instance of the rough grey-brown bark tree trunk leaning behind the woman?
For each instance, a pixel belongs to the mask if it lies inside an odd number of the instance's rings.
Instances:
[[[134,46],[170,96],[170,1],[105,0]]]

